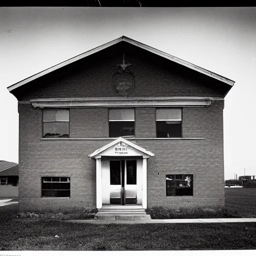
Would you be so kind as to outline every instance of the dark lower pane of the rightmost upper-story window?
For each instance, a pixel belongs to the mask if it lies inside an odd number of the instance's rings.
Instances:
[[[175,138],[181,136],[181,121],[156,121],[156,137]]]

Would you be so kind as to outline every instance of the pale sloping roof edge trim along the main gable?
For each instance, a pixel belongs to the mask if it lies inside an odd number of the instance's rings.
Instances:
[[[137,47],[139,47],[139,48],[148,50],[148,51],[150,51],[150,52],[152,52],[152,53],[154,53],[154,54],[157,54],[157,55],[159,55],[159,56],[161,56],[161,57],[164,57],[164,58],[166,58],[166,59],[169,59],[169,60],[171,60],[171,61],[174,61],[174,62],[176,62],[176,63],[179,63],[179,64],[181,64],[181,65],[183,65],[183,66],[189,67],[189,68],[191,68],[191,69],[193,69],[193,70],[195,70],[195,71],[198,71],[198,72],[200,72],[200,73],[206,74],[206,75],[208,75],[208,76],[210,76],[210,77],[212,77],[212,78],[215,78],[215,79],[217,79],[217,80],[219,80],[219,81],[222,81],[222,82],[224,82],[224,83],[227,83],[227,84],[229,84],[229,85],[231,85],[231,86],[234,84],[234,81],[233,81],[233,80],[230,80],[230,79],[228,79],[228,78],[226,78],[226,77],[224,77],[224,76],[221,76],[221,75],[219,75],[219,74],[216,74],[216,73],[214,73],[214,72],[211,72],[211,71],[209,71],[209,70],[207,70],[207,69],[204,69],[204,68],[202,68],[202,67],[199,67],[199,66],[197,66],[197,65],[194,65],[194,64],[192,64],[192,63],[189,63],[189,62],[187,62],[187,61],[185,61],[185,60],[182,60],[182,59],[180,59],[180,58],[174,57],[174,56],[172,56],[172,55],[170,55],[170,54],[167,54],[167,53],[165,53],[165,52],[163,52],[163,51],[157,50],[157,49],[155,49],[155,48],[153,48],[153,47],[151,47],[151,46],[148,46],[148,45],[146,45],[146,44],[144,44],[144,43],[135,41],[135,40],[133,40],[133,39],[131,39],[131,38],[126,37],[126,36],[123,35],[123,36],[121,36],[121,37],[119,37],[119,38],[117,38],[117,39],[115,39],[115,40],[112,40],[112,41],[110,41],[110,42],[104,43],[104,44],[102,44],[102,45],[100,45],[100,46],[98,46],[98,47],[96,47],[96,48],[93,48],[93,49],[91,49],[91,50],[88,50],[88,51],[86,51],[86,52],[84,52],[84,53],[81,53],[81,54],[79,54],[79,55],[77,55],[77,56],[74,56],[74,57],[72,57],[72,58],[69,58],[69,59],[63,61],[63,62],[60,62],[59,64],[56,64],[56,65],[54,65],[54,66],[52,66],[52,67],[49,67],[49,68],[47,68],[47,69],[45,69],[45,70],[43,70],[43,71],[41,71],[41,72],[39,72],[39,73],[36,73],[36,74],[34,74],[34,75],[31,75],[31,76],[29,76],[29,77],[27,77],[27,78],[25,78],[25,79],[23,79],[23,80],[21,80],[21,81],[19,81],[19,82],[16,82],[16,83],[14,83],[14,84],[8,86],[7,88],[8,88],[9,91],[11,91],[11,90],[13,90],[13,89],[15,89],[15,88],[17,88],[17,87],[19,87],[19,86],[21,86],[21,85],[27,83],[27,82],[30,82],[30,81],[32,81],[32,80],[34,80],[34,79],[40,77],[40,76],[43,76],[43,75],[45,75],[45,74],[47,74],[47,73],[49,73],[49,72],[52,72],[52,71],[54,71],[54,70],[56,70],[56,69],[58,69],[58,68],[60,68],[60,67],[63,67],[63,66],[65,66],[65,65],[68,65],[68,64],[70,64],[70,63],[72,63],[72,62],[74,62],[74,61],[77,61],[77,60],[81,59],[81,58],[84,58],[84,57],[89,56],[89,55],[91,55],[91,54],[93,54],[93,53],[96,53],[96,52],[98,52],[98,51],[100,51],[100,50],[103,50],[103,49],[105,49],[105,48],[107,48],[107,47],[109,47],[109,46],[112,46],[112,45],[114,45],[114,44],[120,42],[120,41],[125,41],[125,42],[128,42],[128,43],[130,43],[130,44],[132,44],[132,45],[135,45],[135,46],[137,46]]]

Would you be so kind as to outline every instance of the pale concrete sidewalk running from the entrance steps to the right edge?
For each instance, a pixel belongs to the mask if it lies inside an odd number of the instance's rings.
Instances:
[[[103,219],[70,219],[63,220],[88,224],[145,224],[145,223],[224,223],[256,222],[256,218],[187,218],[187,219],[143,219],[143,220],[103,220]]]

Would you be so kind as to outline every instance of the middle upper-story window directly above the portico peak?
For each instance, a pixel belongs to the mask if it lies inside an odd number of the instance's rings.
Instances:
[[[109,137],[134,136],[134,109],[109,109]]]

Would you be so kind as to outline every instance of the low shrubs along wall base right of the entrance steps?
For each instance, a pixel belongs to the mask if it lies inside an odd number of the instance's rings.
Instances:
[[[234,218],[242,217],[236,210],[228,210],[226,208],[167,208],[162,206],[154,206],[147,210],[152,219],[171,219],[171,218]]]

